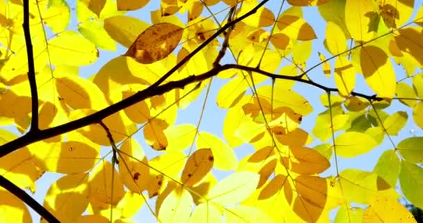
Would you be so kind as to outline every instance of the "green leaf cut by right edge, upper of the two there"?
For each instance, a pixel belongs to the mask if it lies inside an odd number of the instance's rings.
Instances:
[[[399,142],[399,154],[408,162],[423,162],[423,137],[410,137]]]

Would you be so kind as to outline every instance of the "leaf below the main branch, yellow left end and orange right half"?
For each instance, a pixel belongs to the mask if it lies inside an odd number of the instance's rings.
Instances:
[[[95,149],[81,141],[57,142],[49,144],[43,151],[37,151],[35,157],[47,171],[77,174],[94,167],[99,158],[99,148]]]

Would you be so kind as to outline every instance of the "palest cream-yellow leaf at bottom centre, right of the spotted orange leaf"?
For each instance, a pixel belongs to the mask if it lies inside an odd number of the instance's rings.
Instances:
[[[219,181],[207,194],[207,200],[223,206],[244,201],[255,191],[260,176],[255,173],[239,171]]]

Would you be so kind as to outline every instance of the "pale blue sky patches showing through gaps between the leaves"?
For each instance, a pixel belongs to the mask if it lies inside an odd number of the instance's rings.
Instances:
[[[68,1],[70,2],[70,6],[75,5],[76,0]],[[266,4],[267,8],[270,8],[273,10],[274,13],[277,13],[278,8],[280,7],[280,0],[271,0],[269,3]],[[415,6],[420,6],[422,4],[422,1],[417,1],[415,3]],[[127,13],[127,15],[131,15],[134,17],[138,17],[140,20],[144,20],[145,22],[150,22],[150,10],[157,9],[159,6],[159,1],[153,0],[151,1],[143,10],[138,12],[131,12]],[[222,5],[220,5],[222,6]],[[212,9],[216,11],[215,9],[219,6],[214,6]],[[287,3],[285,3],[285,6],[283,9],[287,9],[289,6]],[[203,12],[204,16],[209,16],[206,10]],[[317,56],[317,52],[323,52],[326,56],[329,54],[326,52],[326,49],[324,49],[322,42],[324,40],[325,36],[325,28],[326,23],[321,19],[317,12],[317,8],[310,7],[306,8],[304,10],[304,16],[305,20],[310,23],[310,25],[314,28],[314,31],[317,34],[318,39],[313,41],[313,52],[312,56],[310,58],[310,61],[308,61],[308,68],[310,68],[315,63],[319,63],[319,57]],[[182,18],[185,18],[184,15]],[[71,27],[72,29],[75,29],[77,24],[76,20],[72,20]],[[80,75],[83,77],[90,77],[91,75],[95,75],[95,73],[99,70],[99,68],[104,65],[107,61],[110,59],[113,59],[116,56],[120,56],[122,54],[125,54],[126,48],[124,47],[118,47],[118,49],[115,52],[105,52],[100,51],[100,57],[99,61],[97,61],[93,66],[87,66],[84,68],[80,68]],[[232,61],[230,61],[232,62]],[[225,63],[225,60],[223,61]],[[396,67],[397,71],[397,77],[403,77],[404,71],[402,68]],[[325,84],[327,86],[335,86],[333,83],[333,79],[327,79],[324,74],[321,71],[321,67],[318,67],[314,70],[312,70],[309,73],[309,76],[315,81],[319,82],[320,84]],[[225,83],[225,80],[215,78],[213,80],[212,89],[209,93],[209,97],[206,104],[205,114],[203,115],[202,123],[200,125],[200,131],[207,131],[211,132],[213,134],[216,134],[218,137],[223,138],[222,133],[222,125],[223,120],[225,118],[226,111],[223,109],[220,109],[216,105],[216,95],[218,93],[218,90],[223,86]],[[370,91],[365,82],[364,79],[360,75],[358,75],[358,87],[356,88],[356,91],[372,94],[372,91]],[[305,116],[303,118],[303,122],[301,123],[301,128],[304,130],[307,130],[308,132],[311,132],[312,128],[314,127],[314,121],[316,119],[317,114],[324,111],[324,107],[321,105],[319,95],[324,94],[324,91],[321,91],[320,89],[316,89],[312,86],[308,86],[305,84],[296,84],[294,86],[294,90],[298,93],[301,93],[305,98],[311,102],[314,112],[310,114],[309,116]],[[192,105],[190,105],[188,108],[183,109],[179,111],[177,116],[177,124],[179,123],[191,123],[193,125],[197,125],[198,118],[200,117],[201,107],[205,100],[205,91],[203,91],[202,95],[198,98],[198,100],[195,100]],[[400,132],[398,137],[392,137],[394,139],[394,143],[397,144],[401,139],[404,139],[406,137],[410,137],[412,134],[415,135],[422,135],[422,130],[415,126],[412,122],[412,111],[410,108],[405,107],[404,105],[401,105],[401,103],[394,101],[393,104],[390,106],[389,109],[386,109],[388,113],[392,113],[394,111],[406,111],[408,112],[409,121],[406,125],[406,127]],[[152,155],[156,155],[157,153],[152,152],[152,149],[150,146],[147,146],[144,143],[144,139],[142,138],[143,134],[141,131],[141,134],[137,134],[139,137],[139,142],[147,154],[147,156],[151,157]],[[319,141],[314,141],[313,145],[319,144]],[[376,164],[378,157],[385,151],[386,149],[391,149],[392,144],[388,141],[388,139],[385,139],[383,141],[383,144],[381,146],[378,146],[377,148],[374,148],[369,153],[366,153],[365,155],[360,155],[358,157],[354,157],[351,159],[344,159],[340,158],[338,160],[339,169],[346,169],[346,168],[356,168],[356,169],[362,169],[362,170],[372,170],[374,168],[374,165]],[[244,157],[244,155],[251,153],[253,149],[250,146],[240,146],[239,148],[235,148],[234,151],[237,153],[239,160],[241,157]],[[333,160],[331,160],[331,164],[334,164]],[[329,174],[335,174],[335,168],[331,167],[329,171],[326,171],[324,173],[324,176],[328,176]],[[40,180],[37,182],[37,192],[34,194],[35,199],[40,201],[42,203],[45,193],[48,190],[49,185],[53,183],[57,179],[58,174],[45,174]],[[222,178],[223,176],[226,176],[226,174],[223,174],[222,172],[218,172],[218,175],[216,177]],[[151,203],[151,202],[150,202]],[[33,216],[36,216],[34,220],[38,220],[38,215],[34,214],[31,210],[31,214]],[[141,208],[140,213],[134,217],[134,220],[143,220],[143,222],[155,222],[154,217],[151,215],[149,210],[144,205],[143,208]]]

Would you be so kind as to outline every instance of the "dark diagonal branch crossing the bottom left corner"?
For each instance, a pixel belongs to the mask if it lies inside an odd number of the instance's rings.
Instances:
[[[10,182],[7,178],[0,175],[0,186],[4,187],[6,190],[8,190],[10,193],[15,195],[17,198],[21,199],[21,201],[24,201],[28,206],[30,206],[35,212],[37,212],[42,218],[47,220],[47,222],[59,222],[56,217],[51,215],[47,209],[45,209],[40,203],[35,201],[29,194],[26,194],[24,190],[17,187],[15,184]]]

